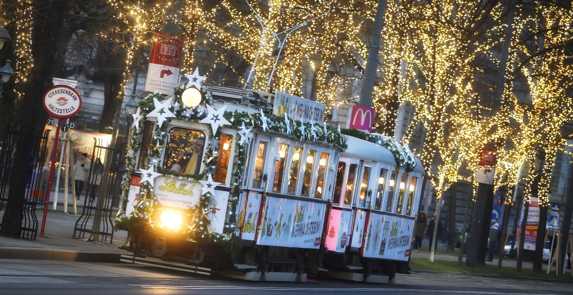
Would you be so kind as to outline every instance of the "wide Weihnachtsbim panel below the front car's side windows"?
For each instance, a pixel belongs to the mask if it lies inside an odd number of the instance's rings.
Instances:
[[[319,249],[326,204],[267,196],[257,245]]]

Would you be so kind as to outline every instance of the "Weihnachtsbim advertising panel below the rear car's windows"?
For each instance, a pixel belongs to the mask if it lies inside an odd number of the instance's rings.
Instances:
[[[370,213],[363,256],[407,261],[413,231],[412,219]]]

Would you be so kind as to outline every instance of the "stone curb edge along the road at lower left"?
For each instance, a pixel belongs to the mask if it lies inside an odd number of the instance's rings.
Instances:
[[[121,254],[105,252],[80,252],[70,250],[30,249],[24,247],[0,248],[0,258],[4,259],[38,259],[77,262],[119,263]]]

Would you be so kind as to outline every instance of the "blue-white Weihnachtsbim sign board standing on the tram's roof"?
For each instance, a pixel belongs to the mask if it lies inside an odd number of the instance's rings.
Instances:
[[[277,92],[274,95],[273,114],[284,116],[285,113],[291,117],[291,119],[322,124],[324,117],[324,104],[303,99],[302,97]]]

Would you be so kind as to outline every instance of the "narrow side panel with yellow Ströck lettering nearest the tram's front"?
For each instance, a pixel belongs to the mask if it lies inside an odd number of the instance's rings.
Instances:
[[[241,239],[254,241],[258,225],[258,213],[261,208],[261,199],[262,194],[256,194],[254,192],[241,195],[241,199],[237,204],[237,212],[239,212],[238,219],[242,221],[242,225],[237,226],[236,232],[236,235],[239,235],[242,230]],[[247,202],[246,206],[245,202]],[[243,209],[245,210],[243,211]]]

